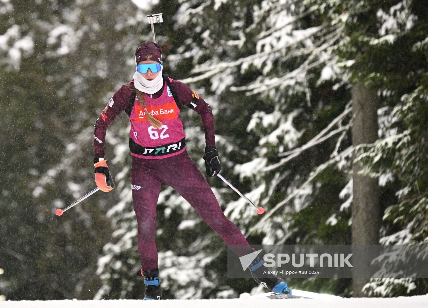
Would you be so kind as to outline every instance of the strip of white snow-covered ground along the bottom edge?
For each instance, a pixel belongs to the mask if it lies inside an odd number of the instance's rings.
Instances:
[[[267,299],[247,297],[240,299],[171,299],[162,301],[119,300],[52,300],[52,301],[4,301],[1,308],[425,308],[428,294],[396,298],[350,298],[350,299]]]

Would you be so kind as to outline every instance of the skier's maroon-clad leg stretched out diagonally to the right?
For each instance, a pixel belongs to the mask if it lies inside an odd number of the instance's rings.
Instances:
[[[186,199],[227,245],[233,245],[231,249],[238,256],[253,252],[241,230],[223,213],[210,185],[187,152],[171,158],[173,159],[165,166],[170,170],[168,178],[165,179],[166,184]]]

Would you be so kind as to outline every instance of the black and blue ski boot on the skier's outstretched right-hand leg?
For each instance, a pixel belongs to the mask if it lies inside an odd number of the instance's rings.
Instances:
[[[254,280],[256,280],[256,282],[263,287],[268,288],[273,293],[291,295],[291,290],[288,288],[288,285],[284,279],[276,277],[273,274],[263,273],[265,270],[269,271],[269,269],[263,265],[263,260],[261,260],[259,257],[257,257],[253,263],[248,266],[248,268],[250,269],[251,276],[253,276]]]

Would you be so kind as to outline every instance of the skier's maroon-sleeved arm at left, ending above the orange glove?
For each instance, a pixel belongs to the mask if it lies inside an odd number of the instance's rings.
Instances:
[[[113,97],[107,103],[107,106],[101,112],[100,117],[94,126],[94,156],[104,158],[104,143],[107,127],[113,120],[128,106],[131,91],[128,85],[122,85],[119,90],[113,94]]]

